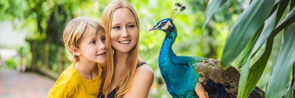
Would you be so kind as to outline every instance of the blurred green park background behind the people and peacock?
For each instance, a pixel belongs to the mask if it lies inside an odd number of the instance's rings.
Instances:
[[[47,98],[59,74],[71,64],[60,41],[64,25],[77,16],[101,22],[103,9],[110,1],[0,0],[0,98]],[[159,20],[169,18],[176,2],[183,3],[187,9],[174,19],[178,30],[173,46],[175,53],[214,59],[221,58],[230,29],[250,2],[228,0],[208,22],[202,38],[201,27],[208,0],[128,1],[140,20],[140,55],[155,74],[149,98],[172,98],[158,68],[158,54],[165,33],[160,30],[148,32],[148,29]],[[283,36],[279,34],[257,84],[263,90],[281,47]]]

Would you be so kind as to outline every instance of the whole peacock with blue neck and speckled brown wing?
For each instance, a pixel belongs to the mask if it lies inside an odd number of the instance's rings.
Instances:
[[[198,98],[196,91],[203,90],[208,98],[236,98],[240,73],[232,65],[226,70],[219,61],[196,56],[177,56],[172,45],[177,37],[177,28],[173,23],[186,7],[176,3],[170,18],[163,19],[151,30],[166,33],[160,49],[158,63],[166,82],[167,90],[173,98]],[[264,91],[258,87],[249,98],[264,98]]]

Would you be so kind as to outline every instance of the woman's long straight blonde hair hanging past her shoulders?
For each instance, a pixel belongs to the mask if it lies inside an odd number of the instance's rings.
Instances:
[[[111,81],[113,78],[114,73],[114,48],[111,46],[111,26],[112,26],[112,19],[113,15],[116,9],[118,8],[128,8],[132,11],[135,19],[136,19],[136,25],[139,31],[139,19],[137,16],[137,13],[135,12],[135,9],[132,7],[132,5],[127,0],[114,0],[111,3],[109,3],[106,8],[103,11],[102,14],[102,24],[105,26],[105,34],[106,34],[106,40],[108,42],[108,53],[105,65],[103,67],[103,81],[102,81],[102,88],[100,91],[102,91],[102,94],[107,97],[108,93],[111,92]],[[139,35],[139,34],[138,34]],[[137,39],[137,44],[133,47],[133,49],[130,50],[130,54],[128,58],[126,59],[126,67],[121,74],[117,86],[117,93],[116,98],[122,98],[124,94],[130,91],[133,78],[136,70],[136,66],[138,63],[139,58],[139,37]]]

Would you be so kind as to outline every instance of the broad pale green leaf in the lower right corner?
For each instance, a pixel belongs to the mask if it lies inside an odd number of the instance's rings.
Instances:
[[[266,98],[283,96],[295,61],[295,23],[287,28],[285,34],[282,48],[266,88]]]

